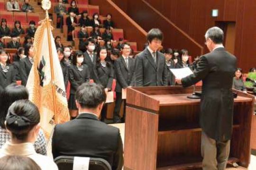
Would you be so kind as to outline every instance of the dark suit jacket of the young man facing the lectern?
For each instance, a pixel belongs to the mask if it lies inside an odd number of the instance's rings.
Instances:
[[[135,86],[167,85],[165,56],[157,51],[156,64],[147,48],[135,59]]]

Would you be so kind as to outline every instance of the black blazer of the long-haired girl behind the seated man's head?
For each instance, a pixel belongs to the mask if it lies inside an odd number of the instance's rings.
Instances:
[[[97,66],[97,80],[96,83],[103,85],[104,88],[111,89],[114,79],[114,69],[109,62],[109,66],[103,67],[101,64]]]

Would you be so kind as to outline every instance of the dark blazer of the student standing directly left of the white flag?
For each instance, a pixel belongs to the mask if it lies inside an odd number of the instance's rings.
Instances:
[[[32,63],[29,61],[28,57],[20,59],[19,61],[19,75],[21,79],[21,85],[27,85],[27,78],[32,68]]]

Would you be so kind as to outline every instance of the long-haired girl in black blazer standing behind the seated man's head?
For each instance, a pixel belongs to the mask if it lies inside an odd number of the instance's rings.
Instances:
[[[97,52],[97,64],[96,64],[96,71],[97,71],[97,80],[96,83],[101,84],[105,91],[111,91],[113,77],[114,77],[114,70],[113,66],[109,61],[106,61],[107,58],[107,49],[103,46],[100,47],[99,51]],[[103,109],[101,110],[101,121],[104,121],[106,118],[107,113],[107,105],[104,105]]]

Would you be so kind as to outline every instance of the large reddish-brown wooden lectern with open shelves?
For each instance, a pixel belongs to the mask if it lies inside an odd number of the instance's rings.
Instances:
[[[201,168],[200,99],[188,99],[192,92],[182,86],[128,88],[124,170]],[[229,163],[247,168],[254,96],[234,92]]]

